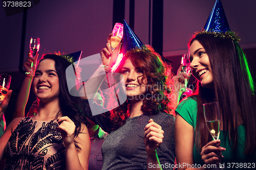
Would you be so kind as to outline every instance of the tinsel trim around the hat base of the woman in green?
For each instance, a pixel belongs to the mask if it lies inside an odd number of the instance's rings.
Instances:
[[[231,38],[234,41],[239,42],[240,38],[238,37],[238,34],[236,34],[233,31],[226,31],[225,33],[218,33],[218,32],[212,32],[212,31],[201,31],[201,32],[196,32],[195,36],[197,35],[214,35],[215,37],[220,37],[220,38]]]

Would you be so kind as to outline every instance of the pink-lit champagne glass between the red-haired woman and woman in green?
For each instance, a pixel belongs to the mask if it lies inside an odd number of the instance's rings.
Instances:
[[[181,64],[182,66],[182,71],[185,72],[186,75],[189,74],[189,72],[191,71],[191,67],[190,67],[190,60],[189,60],[189,55],[188,54],[184,54],[181,58]],[[191,90],[190,88],[187,88],[187,83],[188,83],[188,79],[185,78],[185,87],[180,89],[180,95],[189,95],[193,93],[193,90]]]

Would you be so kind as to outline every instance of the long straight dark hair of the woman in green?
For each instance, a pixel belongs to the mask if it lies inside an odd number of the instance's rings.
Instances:
[[[214,77],[214,89],[207,89],[198,82],[198,112],[196,143],[201,148],[211,140],[206,128],[203,103],[218,101],[223,118],[224,135],[229,134],[233,150],[238,145],[238,121],[246,129],[245,154],[256,152],[256,103],[254,84],[246,56],[237,41],[214,35],[194,36],[188,46],[198,40],[209,57]]]

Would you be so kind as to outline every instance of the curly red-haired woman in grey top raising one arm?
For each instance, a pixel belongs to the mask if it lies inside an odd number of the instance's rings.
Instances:
[[[107,43],[101,53],[103,65],[108,63],[111,53]],[[109,66],[115,64],[117,53],[118,50],[113,52]],[[102,69],[97,70],[102,74],[95,73],[98,77],[86,83],[87,94],[92,93],[90,84],[99,87],[103,79],[99,75],[105,74]],[[84,114],[109,133],[102,144],[102,169],[172,169],[175,146],[174,116],[168,114],[172,110],[173,85],[169,66],[150,46],[142,46],[125,53],[117,70],[125,84],[118,90],[126,89],[127,100],[123,104],[93,116],[91,109],[100,113],[102,108],[91,102],[89,106],[84,100]],[[87,95],[87,99],[93,96]]]

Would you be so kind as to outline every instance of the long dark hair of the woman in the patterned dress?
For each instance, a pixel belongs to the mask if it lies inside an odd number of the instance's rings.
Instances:
[[[81,124],[88,125],[87,118],[82,115],[81,112],[81,99],[70,95],[69,88],[67,85],[66,69],[71,65],[65,58],[55,55],[47,54],[43,56],[44,59],[51,59],[55,61],[55,69],[59,78],[59,104],[61,116],[68,116],[76,125],[75,137],[82,131]],[[75,80],[74,80],[75,81]],[[58,116],[56,115],[56,117]],[[80,149],[78,143],[75,141],[77,149]]]

